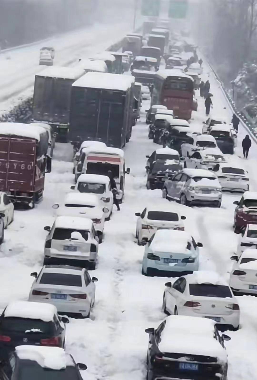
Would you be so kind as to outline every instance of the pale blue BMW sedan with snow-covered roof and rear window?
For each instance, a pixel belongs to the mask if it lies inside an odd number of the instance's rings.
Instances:
[[[145,246],[142,274],[177,277],[198,271],[202,246],[185,231],[157,230]]]

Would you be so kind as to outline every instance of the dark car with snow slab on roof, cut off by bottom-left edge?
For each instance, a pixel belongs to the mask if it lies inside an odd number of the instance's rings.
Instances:
[[[8,360],[2,364],[0,376],[5,380],[82,380],[79,371],[86,369],[85,364],[76,364],[63,348],[24,345],[15,347]]]

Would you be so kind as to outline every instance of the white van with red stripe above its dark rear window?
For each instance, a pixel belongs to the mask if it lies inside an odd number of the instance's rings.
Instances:
[[[109,170],[112,171],[117,186],[116,198],[122,202],[125,174],[130,173],[130,168],[125,169],[124,152],[122,149],[109,147],[91,147],[85,149],[85,152],[81,155],[81,163],[79,162],[77,165],[77,171],[79,170],[81,170],[80,174],[100,174],[103,176],[106,176]]]

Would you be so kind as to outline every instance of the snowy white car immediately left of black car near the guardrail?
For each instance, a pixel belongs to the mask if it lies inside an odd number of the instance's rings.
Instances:
[[[181,153],[183,157],[192,156],[194,152],[205,148],[217,148],[216,140],[211,135],[198,135],[197,133],[192,133],[192,138],[192,144],[189,142],[181,144]]]

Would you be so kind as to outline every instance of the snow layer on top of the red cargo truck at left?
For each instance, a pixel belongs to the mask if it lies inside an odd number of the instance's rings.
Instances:
[[[22,123],[0,123],[0,135],[22,136],[40,141],[41,133],[46,133],[43,127]]]

